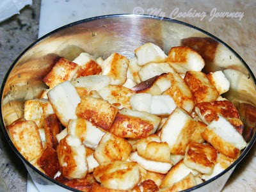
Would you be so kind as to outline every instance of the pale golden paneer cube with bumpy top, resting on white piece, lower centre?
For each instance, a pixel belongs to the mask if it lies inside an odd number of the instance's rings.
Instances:
[[[136,143],[138,154],[145,159],[171,163],[170,148],[168,143],[162,142],[156,134],[142,138]]]

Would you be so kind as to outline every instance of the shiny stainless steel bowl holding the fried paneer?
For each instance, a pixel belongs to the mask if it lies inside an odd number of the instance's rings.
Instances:
[[[244,74],[248,74],[250,81],[255,84],[255,77],[243,59],[215,36],[184,22],[166,18],[161,20],[158,17],[147,15],[107,15],[80,20],[43,36],[20,54],[8,70],[1,86],[0,122],[6,140],[23,161],[40,191],[78,190],[64,186],[60,182],[47,177],[22,157],[10,140],[6,129],[12,119],[6,117],[8,111],[5,111],[5,107],[16,111],[16,109],[22,108],[25,100],[38,97],[42,90],[46,88],[42,79],[51,70],[58,56],[73,60],[79,53],[88,52],[95,57],[107,58],[111,53],[118,52],[131,58],[134,56],[134,49],[146,42],[157,44],[163,48],[164,52],[168,53],[170,47],[180,45],[180,40],[189,37],[208,37],[216,44],[223,46],[223,50],[236,57],[236,63],[222,65],[223,63],[220,62],[207,63],[207,65],[216,65],[214,68],[220,69],[236,68]],[[255,88],[253,88],[254,92]],[[239,102],[256,103],[253,97],[246,97],[245,100],[241,100],[239,94],[235,92],[229,92],[225,96],[231,100],[237,99]],[[239,107],[239,104],[237,106]],[[17,117],[22,116],[22,113],[18,113],[18,111],[15,115]],[[246,118],[247,116],[242,116],[244,122],[246,122]],[[225,171],[186,191],[220,191],[234,168],[236,168],[237,163],[246,156],[252,147],[255,138],[256,134],[252,136],[241,156]]]

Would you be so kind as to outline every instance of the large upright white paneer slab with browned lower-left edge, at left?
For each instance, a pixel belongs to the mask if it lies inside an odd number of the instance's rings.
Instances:
[[[58,84],[47,95],[52,108],[64,127],[67,127],[68,120],[77,118],[76,107],[81,99],[76,92],[76,88],[69,81]]]

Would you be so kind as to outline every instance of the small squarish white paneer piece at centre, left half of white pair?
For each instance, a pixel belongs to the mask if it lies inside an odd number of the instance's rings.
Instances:
[[[150,93],[137,93],[132,95],[130,104],[132,109],[137,111],[145,111],[151,113],[150,105],[152,103],[152,95]]]

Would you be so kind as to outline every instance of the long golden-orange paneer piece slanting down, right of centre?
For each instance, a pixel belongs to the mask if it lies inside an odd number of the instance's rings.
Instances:
[[[187,84],[176,72],[166,74],[172,84],[163,95],[170,95],[179,108],[183,108],[191,113],[194,108],[194,98]]]

